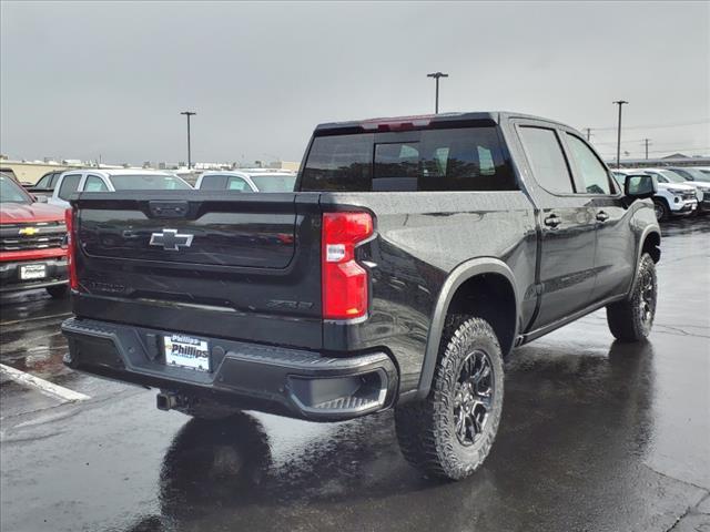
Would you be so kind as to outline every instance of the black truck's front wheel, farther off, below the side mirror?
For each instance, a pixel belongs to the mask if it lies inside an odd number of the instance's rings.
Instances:
[[[607,306],[607,323],[615,338],[619,341],[640,341],[648,337],[653,327],[657,299],[656,263],[645,253],[627,298]]]

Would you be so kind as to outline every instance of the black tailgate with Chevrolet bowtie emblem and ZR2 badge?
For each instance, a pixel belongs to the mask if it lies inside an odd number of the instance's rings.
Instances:
[[[320,348],[317,193],[82,194],[77,316]]]

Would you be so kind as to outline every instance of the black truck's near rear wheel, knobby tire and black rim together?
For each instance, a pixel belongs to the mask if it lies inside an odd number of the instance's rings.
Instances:
[[[397,407],[405,459],[427,475],[458,480],[484,462],[503,411],[503,354],[480,318],[449,316],[428,397]]]

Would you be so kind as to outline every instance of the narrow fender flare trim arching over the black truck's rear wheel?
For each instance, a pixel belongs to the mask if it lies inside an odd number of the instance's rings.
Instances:
[[[515,297],[515,332],[514,339],[518,336],[518,328],[520,321],[520,306],[517,285],[515,283],[515,276],[513,270],[506,263],[495,257],[479,257],[471,258],[465,263],[459,264],[448,275],[442,289],[439,290],[434,313],[432,314],[432,321],[429,324],[429,334],[426,340],[426,350],[424,352],[424,362],[422,365],[422,372],[419,375],[419,386],[417,388],[416,398],[424,399],[429,393],[432,387],[432,379],[434,378],[434,370],[436,369],[436,362],[438,359],[439,344],[442,341],[442,334],[444,332],[444,323],[446,320],[446,311],[448,309],[454,294],[456,290],[468,279],[483,275],[483,274],[496,274],[501,275],[510,286],[513,287],[513,294]]]

